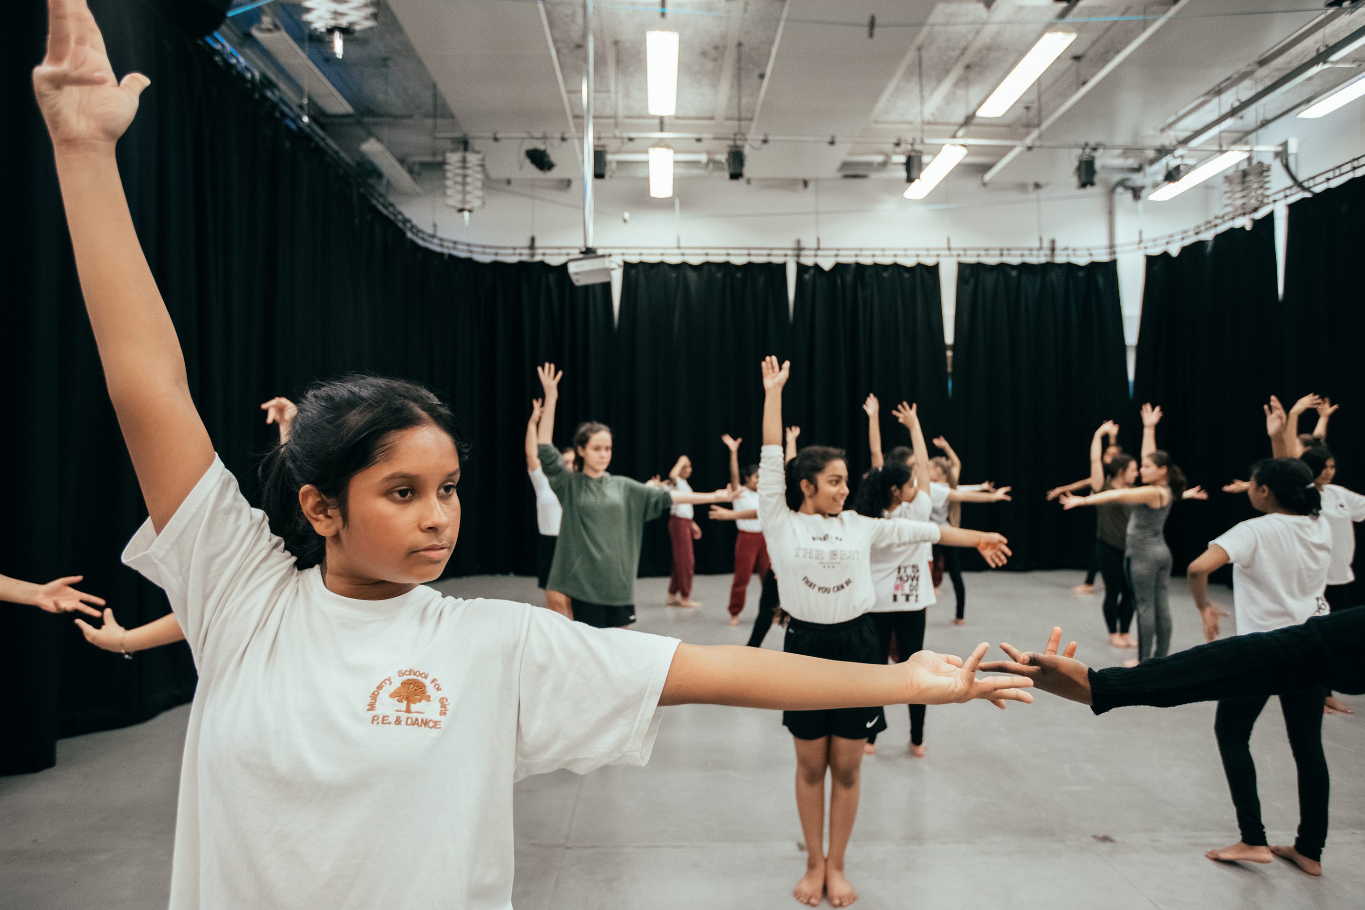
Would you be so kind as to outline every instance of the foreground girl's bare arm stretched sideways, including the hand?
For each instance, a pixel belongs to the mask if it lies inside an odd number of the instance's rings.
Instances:
[[[920,651],[905,663],[876,666],[823,660],[743,645],[680,644],[661,705],[726,704],[741,708],[820,711],[885,704],[951,704],[984,699],[1032,701],[1020,677],[979,679],[988,645],[961,658]]]

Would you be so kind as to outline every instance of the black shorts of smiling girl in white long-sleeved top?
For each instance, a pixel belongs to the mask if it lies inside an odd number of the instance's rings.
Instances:
[[[788,619],[782,649],[808,658],[848,660],[850,663],[885,663],[876,640],[876,626],[871,614],[857,619],[823,625]],[[827,708],[824,711],[784,711],[782,726],[797,739],[842,737],[867,739],[886,730],[886,714],[875,708]]]

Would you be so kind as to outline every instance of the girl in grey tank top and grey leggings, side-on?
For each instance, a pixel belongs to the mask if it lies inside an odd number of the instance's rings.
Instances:
[[[1164,656],[1171,648],[1171,610],[1167,584],[1171,551],[1166,546],[1166,518],[1171,503],[1185,493],[1185,475],[1171,456],[1156,447],[1162,409],[1143,405],[1143,486],[1104,490],[1088,497],[1062,495],[1062,508],[1122,503],[1130,506],[1125,532],[1123,569],[1137,613],[1137,662]]]

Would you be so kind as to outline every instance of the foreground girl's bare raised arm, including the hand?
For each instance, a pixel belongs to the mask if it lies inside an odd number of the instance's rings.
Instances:
[[[56,154],[61,199],[105,385],[160,533],[213,463],[180,340],[147,267],[113,147],[132,123],[141,74],[119,82],[85,0],[48,1],[48,50],[34,93]]]

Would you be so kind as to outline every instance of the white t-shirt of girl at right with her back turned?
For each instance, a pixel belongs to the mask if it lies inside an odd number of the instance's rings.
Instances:
[[[1321,518],[1264,514],[1233,525],[1215,544],[1233,562],[1237,634],[1297,626],[1327,613],[1332,531]]]

